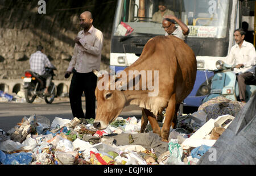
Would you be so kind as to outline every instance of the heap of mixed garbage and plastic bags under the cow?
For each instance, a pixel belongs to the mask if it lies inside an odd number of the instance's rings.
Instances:
[[[98,131],[86,123],[26,116],[7,132],[0,129],[0,164],[5,165],[193,165],[234,119],[222,115],[207,121],[204,111],[178,118],[168,141],[140,133],[141,119],[118,117]]]

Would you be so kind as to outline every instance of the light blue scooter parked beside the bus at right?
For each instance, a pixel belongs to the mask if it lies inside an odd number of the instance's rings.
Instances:
[[[230,100],[240,100],[236,73],[233,72],[235,67],[234,65],[225,64],[222,60],[216,62],[217,70],[214,70],[210,94],[203,99],[203,103],[221,95]],[[247,102],[255,93],[256,76],[254,76],[253,80],[246,83],[245,101]]]

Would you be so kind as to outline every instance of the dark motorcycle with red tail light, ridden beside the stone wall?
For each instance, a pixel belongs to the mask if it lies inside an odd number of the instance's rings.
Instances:
[[[52,79],[53,76],[56,76],[53,70],[56,69],[46,68],[46,72],[52,75]],[[47,96],[44,94],[44,90],[46,89],[46,79],[31,70],[25,70],[25,77],[22,78],[24,82],[25,98],[28,103],[33,103],[37,96],[43,98],[47,104],[53,102],[56,95],[56,87],[52,81],[48,88],[49,95]]]

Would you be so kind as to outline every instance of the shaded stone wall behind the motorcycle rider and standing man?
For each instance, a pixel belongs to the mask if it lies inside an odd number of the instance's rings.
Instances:
[[[46,0],[46,3],[46,14],[39,14],[38,0],[0,1],[0,79],[10,82],[20,79],[24,70],[30,68],[29,58],[40,44],[57,68],[55,79],[70,81],[64,74],[72,57],[73,39],[81,30],[79,15],[86,10],[93,14],[94,27],[104,33],[101,69],[109,69],[110,36],[117,0]],[[13,84],[2,87],[12,89]]]

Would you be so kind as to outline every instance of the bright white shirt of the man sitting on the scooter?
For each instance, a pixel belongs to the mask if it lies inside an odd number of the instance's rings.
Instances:
[[[226,58],[226,62],[229,65],[244,65],[244,67],[241,69],[235,68],[235,73],[254,73],[254,68],[256,64],[256,52],[254,45],[245,40],[243,40],[241,48],[238,44],[234,45],[231,48],[228,57]]]

